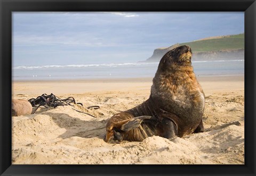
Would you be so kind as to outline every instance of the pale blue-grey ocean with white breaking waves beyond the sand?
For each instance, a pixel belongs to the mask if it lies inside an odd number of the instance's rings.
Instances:
[[[204,76],[244,75],[244,60],[194,61],[194,72]],[[13,81],[153,78],[157,63],[14,66]]]

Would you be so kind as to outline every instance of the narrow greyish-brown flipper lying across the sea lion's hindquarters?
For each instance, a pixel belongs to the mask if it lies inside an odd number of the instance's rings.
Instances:
[[[138,116],[136,118],[129,119],[129,120],[130,121],[127,121],[126,123],[124,123],[122,125],[122,127],[121,127],[122,131],[130,131],[135,128],[138,128],[143,120],[157,120],[157,119],[154,118],[153,116],[143,115],[143,116]]]

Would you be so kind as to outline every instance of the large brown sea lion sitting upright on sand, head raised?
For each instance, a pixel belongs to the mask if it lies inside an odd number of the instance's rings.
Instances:
[[[191,66],[191,48],[179,46],[161,59],[149,98],[113,115],[106,124],[107,143],[142,141],[150,136],[183,137],[203,132],[205,95]]]

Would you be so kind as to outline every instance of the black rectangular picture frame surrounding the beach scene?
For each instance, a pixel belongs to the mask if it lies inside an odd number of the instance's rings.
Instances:
[[[0,174],[1,175],[255,175],[256,2],[253,0],[0,0]],[[26,11],[190,11],[245,14],[244,165],[12,165],[12,12]]]

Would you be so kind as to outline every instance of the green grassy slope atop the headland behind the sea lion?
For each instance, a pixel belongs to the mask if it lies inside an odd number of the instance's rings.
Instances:
[[[189,45],[193,52],[209,52],[230,49],[244,49],[244,33],[238,35],[223,36],[221,38],[203,39],[181,43]]]

